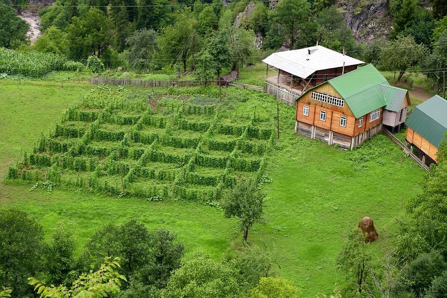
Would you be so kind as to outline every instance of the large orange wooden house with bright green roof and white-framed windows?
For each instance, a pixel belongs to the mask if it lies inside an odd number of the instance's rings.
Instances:
[[[296,100],[295,131],[344,149],[353,149],[381,131],[388,105],[393,110],[398,110],[395,106],[404,106],[406,111],[406,102],[400,101],[401,96],[389,95],[388,86],[387,80],[372,64],[321,83]],[[394,91],[406,92],[400,88]],[[388,94],[386,100],[385,94]]]

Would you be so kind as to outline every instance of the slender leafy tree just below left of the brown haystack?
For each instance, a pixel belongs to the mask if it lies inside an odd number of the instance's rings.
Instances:
[[[345,274],[345,294],[350,297],[360,292],[367,278],[371,256],[367,251],[364,235],[359,229],[352,230],[345,238],[337,256],[338,268]]]

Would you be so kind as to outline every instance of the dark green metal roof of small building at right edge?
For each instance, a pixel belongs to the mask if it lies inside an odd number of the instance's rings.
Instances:
[[[416,106],[405,124],[439,148],[447,131],[447,101],[441,96],[433,96]]]

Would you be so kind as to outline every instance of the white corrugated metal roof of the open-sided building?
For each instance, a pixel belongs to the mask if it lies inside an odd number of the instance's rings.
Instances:
[[[306,78],[317,70],[342,67],[343,62],[345,66],[364,63],[322,46],[277,52],[262,61],[301,78]]]

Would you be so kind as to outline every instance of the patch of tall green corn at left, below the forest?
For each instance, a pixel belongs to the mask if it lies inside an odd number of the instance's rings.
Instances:
[[[69,61],[64,56],[53,53],[10,51],[0,48],[0,73],[38,77],[51,71],[78,71],[82,68],[82,63]]]

